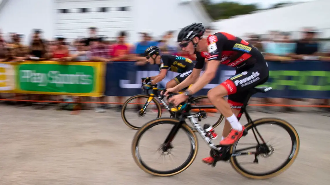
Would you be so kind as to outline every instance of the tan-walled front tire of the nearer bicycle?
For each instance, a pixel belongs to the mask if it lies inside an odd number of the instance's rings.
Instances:
[[[194,132],[191,130],[191,128],[186,124],[183,123],[182,124],[182,129],[188,134],[189,138],[190,138],[190,144],[192,145],[191,150],[190,150],[190,154],[187,158],[187,160],[178,168],[174,169],[174,170],[169,170],[169,171],[157,171],[154,169],[151,169],[150,167],[148,167],[147,165],[145,165],[143,163],[142,160],[140,160],[140,157],[137,156],[138,151],[137,149],[138,147],[138,143],[140,141],[141,136],[150,128],[152,128],[153,126],[156,126],[158,124],[179,124],[179,120],[178,119],[174,119],[174,118],[157,118],[157,119],[153,119],[149,122],[147,122],[146,124],[144,124],[140,130],[138,132],[135,133],[134,138],[133,138],[133,142],[132,142],[132,155],[134,158],[135,163],[139,166],[139,168],[141,168],[144,172],[149,173],[151,175],[155,175],[155,176],[172,176],[172,175],[176,175],[179,174],[181,172],[183,172],[184,170],[186,170],[191,164],[192,162],[195,160],[196,156],[197,156],[197,152],[198,152],[198,140],[196,135],[194,134]]]

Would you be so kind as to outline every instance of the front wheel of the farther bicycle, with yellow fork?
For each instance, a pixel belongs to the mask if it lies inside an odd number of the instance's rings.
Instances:
[[[139,110],[139,111],[136,111],[136,112],[133,112],[132,114],[128,114],[128,111],[127,111],[127,108],[128,108],[128,105],[130,104],[130,102],[132,102],[133,100],[135,99],[138,99],[138,98],[147,98],[148,100],[145,102],[145,106],[146,108],[148,106],[150,106],[150,104],[153,104],[155,105],[155,108],[156,110],[158,111],[155,115],[151,115],[151,117],[148,117],[148,120],[150,119],[155,119],[155,118],[160,118],[161,115],[162,115],[162,109],[160,107],[160,104],[159,102],[155,99],[155,98],[152,98],[152,96],[148,96],[146,94],[137,94],[135,96],[132,96],[130,98],[128,98],[125,103],[123,104],[123,107],[121,109],[121,119],[124,121],[124,123],[132,128],[132,129],[140,129],[141,126],[138,126],[138,125],[133,125],[133,121],[128,121],[127,117],[133,117],[134,115],[135,116],[138,116],[139,118],[142,118],[142,117],[145,117],[146,114],[147,114],[147,111],[142,111],[142,110]],[[150,100],[149,98],[152,98],[151,101],[148,103],[148,101]],[[136,124],[138,121],[136,119],[134,119],[134,124]],[[143,123],[145,123],[146,121],[143,121]]]

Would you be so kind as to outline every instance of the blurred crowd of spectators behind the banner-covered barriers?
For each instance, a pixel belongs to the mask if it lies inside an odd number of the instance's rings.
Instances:
[[[149,46],[158,45],[162,54],[179,55],[191,60],[196,57],[183,52],[177,45],[171,44],[174,31],[167,31],[159,40],[154,40],[148,31],[139,32],[141,41],[136,44],[127,43],[128,34],[125,31],[117,33],[116,41],[107,40],[106,36],[98,35],[98,28],[90,27],[88,38],[78,38],[68,42],[66,38],[57,36],[54,40],[46,40],[42,37],[42,30],[33,30],[29,44],[22,44],[24,35],[9,33],[5,39],[0,30],[0,62],[17,62],[23,60],[53,60],[53,61],[136,61],[136,65],[146,65],[144,51]],[[206,36],[213,34],[211,28],[207,28]],[[291,40],[286,32],[273,31],[268,37],[262,38],[256,34],[248,35],[248,42],[263,52],[268,61],[293,62],[294,60],[327,60],[330,61],[329,53],[320,52],[320,46],[316,41],[317,32],[311,28],[305,28],[301,40]],[[8,94],[1,94],[2,97]],[[7,97],[5,97],[7,98]],[[48,99],[60,100],[59,96],[53,95],[28,95],[15,94],[16,99]],[[85,97],[88,100],[89,97]],[[99,99],[104,101],[104,97]],[[116,101],[123,102],[122,97]],[[268,102],[268,99],[264,100]],[[290,103],[290,100],[283,100]],[[19,106],[32,105],[29,102],[16,102]],[[322,100],[318,104],[329,104],[328,100]],[[41,105],[39,108],[44,107]],[[116,107],[120,110],[120,105]],[[60,110],[57,107],[55,110]],[[96,107],[97,112],[105,112],[105,105]],[[286,108],[286,111],[293,111]]]

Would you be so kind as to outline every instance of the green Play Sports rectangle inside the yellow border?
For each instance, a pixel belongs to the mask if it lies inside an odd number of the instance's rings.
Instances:
[[[95,86],[93,66],[23,64],[17,76],[23,91],[91,93]]]

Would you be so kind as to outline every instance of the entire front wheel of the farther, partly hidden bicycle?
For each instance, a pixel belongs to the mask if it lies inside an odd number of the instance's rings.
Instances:
[[[139,104],[142,104],[143,107],[138,106]],[[151,109],[148,110],[148,107]],[[154,97],[146,94],[137,94],[128,98],[121,109],[121,119],[128,127],[136,130],[140,129],[140,125],[148,120],[160,118],[161,116],[162,109],[159,102]],[[143,118],[146,119],[141,120]]]

